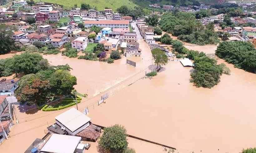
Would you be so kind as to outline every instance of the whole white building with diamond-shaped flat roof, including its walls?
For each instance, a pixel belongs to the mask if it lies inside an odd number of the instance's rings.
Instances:
[[[87,117],[75,108],[71,108],[56,116],[55,121],[60,127],[65,128],[68,135],[75,136],[78,132],[84,130],[90,125],[91,118]]]

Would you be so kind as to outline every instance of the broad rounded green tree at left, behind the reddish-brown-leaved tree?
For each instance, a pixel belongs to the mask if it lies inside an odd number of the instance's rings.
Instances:
[[[13,56],[13,67],[16,73],[36,73],[41,70],[42,55],[38,53],[22,53]]]

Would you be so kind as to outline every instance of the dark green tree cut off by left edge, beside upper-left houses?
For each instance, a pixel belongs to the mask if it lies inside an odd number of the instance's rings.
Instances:
[[[14,40],[11,38],[14,30],[17,30],[14,26],[0,24],[0,54],[8,53],[15,48]]]

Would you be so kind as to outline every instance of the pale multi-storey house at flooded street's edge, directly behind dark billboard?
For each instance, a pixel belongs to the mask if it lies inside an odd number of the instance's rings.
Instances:
[[[126,58],[135,56],[135,57],[140,57],[141,55],[141,50],[139,49],[139,43],[137,42],[129,42],[126,44]]]

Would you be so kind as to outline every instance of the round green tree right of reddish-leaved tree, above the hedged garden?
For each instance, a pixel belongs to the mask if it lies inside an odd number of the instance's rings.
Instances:
[[[76,77],[65,70],[56,70],[49,78],[52,92],[57,95],[70,94],[76,85]]]

